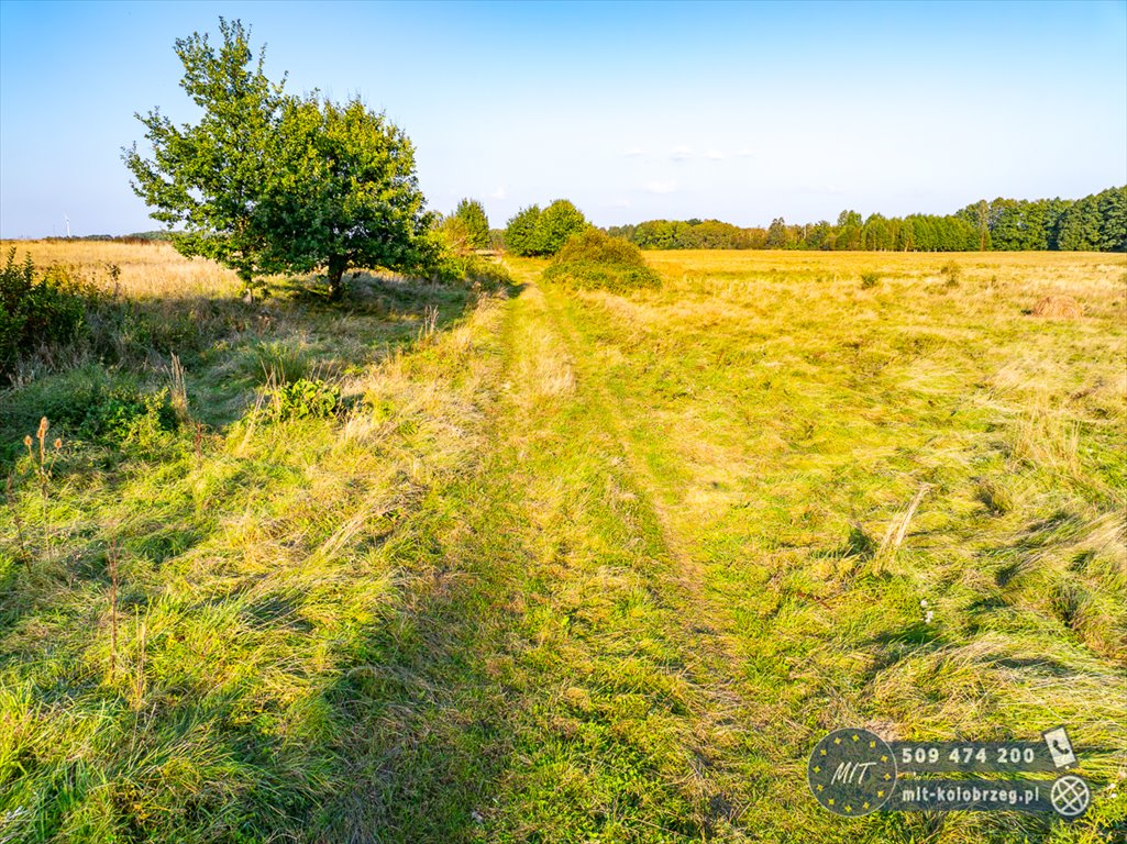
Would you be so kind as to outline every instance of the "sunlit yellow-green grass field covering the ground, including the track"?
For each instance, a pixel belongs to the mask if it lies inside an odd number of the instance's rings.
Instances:
[[[1127,838],[1122,255],[514,259],[341,310],[19,247],[133,316],[0,393],[0,842]],[[338,408],[269,412],[301,379]],[[837,727],[1058,723],[1075,821],[806,785]]]

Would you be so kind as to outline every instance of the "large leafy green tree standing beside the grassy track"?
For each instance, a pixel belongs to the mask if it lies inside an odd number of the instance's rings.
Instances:
[[[429,216],[410,140],[358,99],[286,95],[265,75],[249,30],[220,19],[222,45],[176,42],[181,88],[203,109],[174,125],[137,115],[152,145],[124,160],[134,192],[186,256],[234,269],[248,292],[261,276],[323,269],[330,296],[354,266],[410,270],[433,258]]]

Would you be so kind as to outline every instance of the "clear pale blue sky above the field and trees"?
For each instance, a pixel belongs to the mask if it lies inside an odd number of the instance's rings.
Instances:
[[[134,112],[193,113],[177,37],[252,26],[287,89],[410,135],[429,206],[494,225],[948,213],[1127,184],[1127,3],[0,0],[0,237],[159,228]]]

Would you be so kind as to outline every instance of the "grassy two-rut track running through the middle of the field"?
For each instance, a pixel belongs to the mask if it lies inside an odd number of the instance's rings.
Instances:
[[[481,530],[520,536],[511,557],[530,561],[521,641],[500,659],[516,739],[485,837],[754,839],[771,782],[806,797],[788,713],[746,666],[566,294],[521,281],[480,481],[495,505]]]

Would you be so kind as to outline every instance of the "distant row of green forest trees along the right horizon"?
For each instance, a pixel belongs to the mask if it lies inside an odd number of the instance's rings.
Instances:
[[[719,220],[647,220],[606,231],[642,249],[1122,252],[1127,251],[1127,186],[1083,199],[982,199],[947,216],[862,219],[855,211],[843,211],[836,223],[792,225],[778,217],[767,229],[740,229]]]

